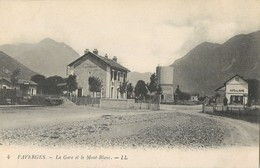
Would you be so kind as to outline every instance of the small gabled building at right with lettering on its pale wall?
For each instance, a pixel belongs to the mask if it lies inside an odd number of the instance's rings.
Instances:
[[[218,103],[223,103],[225,97],[228,104],[248,103],[248,82],[239,75],[233,76],[215,91],[218,94]]]

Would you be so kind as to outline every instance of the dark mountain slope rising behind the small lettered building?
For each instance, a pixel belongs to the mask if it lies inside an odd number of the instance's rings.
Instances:
[[[245,79],[260,79],[260,31],[240,34],[223,44],[204,42],[173,67],[174,87],[212,95],[226,80],[239,74]]]

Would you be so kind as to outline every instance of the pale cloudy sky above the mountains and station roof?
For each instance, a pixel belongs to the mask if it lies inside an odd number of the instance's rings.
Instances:
[[[260,30],[259,17],[260,0],[0,0],[0,45],[49,37],[154,72],[201,42]]]

